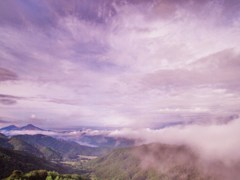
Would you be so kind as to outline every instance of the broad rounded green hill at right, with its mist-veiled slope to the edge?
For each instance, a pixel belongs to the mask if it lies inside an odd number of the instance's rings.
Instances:
[[[99,179],[229,180],[240,175],[239,162],[202,160],[187,146],[158,143],[115,149],[88,167]]]

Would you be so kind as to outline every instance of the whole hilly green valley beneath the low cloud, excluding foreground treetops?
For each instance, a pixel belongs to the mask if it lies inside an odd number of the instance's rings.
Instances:
[[[239,162],[229,166],[220,160],[202,160],[186,145],[125,143],[123,146],[123,143],[117,143],[119,146],[116,146],[113,142],[119,138],[106,136],[111,143],[106,146],[107,141],[104,141],[99,146],[97,140],[100,137],[102,139],[104,135],[97,138],[93,135],[92,139],[87,135],[88,142],[95,142],[96,146],[90,147],[43,134],[0,134],[0,178],[14,176],[11,175],[14,170],[21,171],[21,176],[25,177],[24,173],[43,169],[58,172],[59,177],[61,174],[79,174],[81,178],[96,180],[226,180],[236,177],[240,171]]]

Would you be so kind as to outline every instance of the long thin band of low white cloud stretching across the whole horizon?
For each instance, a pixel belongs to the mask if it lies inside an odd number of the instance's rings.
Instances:
[[[231,163],[240,160],[239,119],[224,124],[189,124],[162,129],[119,129],[119,130],[68,130],[68,131],[9,131],[8,135],[45,134],[78,141],[81,136],[122,137],[136,140],[136,145],[163,143],[187,145],[203,159],[223,160]]]

